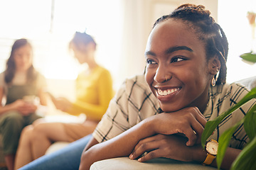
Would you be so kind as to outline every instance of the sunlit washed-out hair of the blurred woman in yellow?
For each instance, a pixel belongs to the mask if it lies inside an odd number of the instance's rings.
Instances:
[[[92,42],[96,48],[96,42],[93,40],[92,36],[87,33],[75,32],[72,40],[70,40],[69,48],[72,49],[72,45],[75,45],[78,50],[82,50],[80,45],[88,45]]]

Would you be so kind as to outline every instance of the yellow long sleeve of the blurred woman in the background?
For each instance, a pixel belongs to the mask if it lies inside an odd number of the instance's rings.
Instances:
[[[105,71],[100,74],[97,83],[97,90],[99,95],[99,104],[85,103],[82,101],[75,101],[68,113],[72,115],[79,115],[85,113],[87,117],[94,120],[100,120],[107,110],[107,106],[113,96],[112,77],[110,72]]]

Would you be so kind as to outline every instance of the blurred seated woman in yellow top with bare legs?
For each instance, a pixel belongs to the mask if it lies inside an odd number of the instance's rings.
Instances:
[[[75,103],[66,98],[53,98],[53,103],[61,111],[71,115],[85,113],[87,118],[82,124],[40,123],[26,127],[16,154],[16,169],[43,156],[53,142],[73,142],[92,133],[114,94],[110,72],[95,62],[95,40],[87,33],[76,32],[69,47],[80,64],[87,63],[88,69],[76,79]]]

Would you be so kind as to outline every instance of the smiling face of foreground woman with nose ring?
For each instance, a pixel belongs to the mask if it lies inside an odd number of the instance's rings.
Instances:
[[[212,75],[193,30],[172,19],[159,23],[149,35],[145,57],[146,82],[164,112],[206,105]]]

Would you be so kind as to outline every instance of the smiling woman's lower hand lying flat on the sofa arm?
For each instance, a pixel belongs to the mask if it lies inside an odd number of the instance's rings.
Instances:
[[[193,157],[196,149],[203,152],[201,145],[195,145],[193,147],[186,146],[186,137],[179,135],[154,135],[152,137],[146,137],[144,140],[139,141],[139,143],[134,147],[132,154],[130,154],[130,159],[137,159],[142,154],[146,152],[141,158],[138,159],[139,162],[146,162],[150,159],[165,157],[169,159],[176,159],[183,162],[195,161]]]

